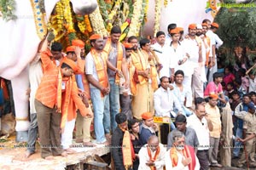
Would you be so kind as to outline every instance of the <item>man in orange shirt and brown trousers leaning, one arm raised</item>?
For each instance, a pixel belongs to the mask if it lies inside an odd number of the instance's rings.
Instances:
[[[77,84],[73,81],[73,73],[79,71],[71,59],[63,59],[61,67],[57,67],[50,59],[52,54],[47,48],[47,41],[41,48],[41,59],[44,77],[38,87],[35,106],[38,114],[38,132],[41,144],[41,156],[52,159],[53,156],[67,156],[61,147],[61,114],[67,115],[69,102],[73,99],[83,116],[90,115],[79,97]],[[76,108],[73,108],[76,110]],[[61,112],[61,114],[60,114]],[[67,121],[70,117],[62,117]]]

